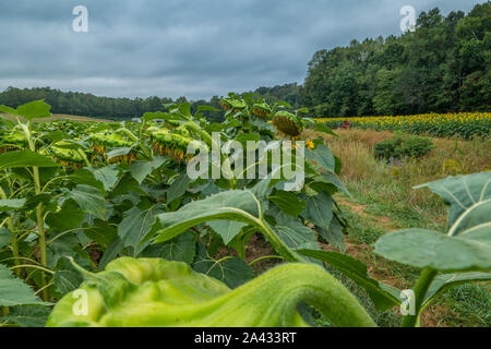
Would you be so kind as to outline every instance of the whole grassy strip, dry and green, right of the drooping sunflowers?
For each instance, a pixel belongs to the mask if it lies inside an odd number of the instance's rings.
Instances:
[[[372,243],[397,229],[420,227],[444,231],[447,213],[442,200],[428,189],[412,188],[448,176],[490,170],[491,140],[433,139],[435,148],[423,158],[387,164],[373,154],[375,144],[391,139],[391,132],[339,130],[336,133],[338,137],[306,131],[302,139],[324,139],[342,159],[340,177],[354,195],[352,198],[336,195],[350,224],[346,252],[366,263],[373,278],[398,288],[410,288],[419,270],[376,256]],[[423,313],[422,325],[489,324],[489,291],[486,290],[489,288],[480,284],[445,293]],[[380,314],[374,318],[383,326],[397,325],[399,321],[397,314],[388,316],[387,323]]]

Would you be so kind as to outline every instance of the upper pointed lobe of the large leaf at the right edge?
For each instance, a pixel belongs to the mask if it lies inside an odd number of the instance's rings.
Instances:
[[[448,177],[419,186],[429,188],[442,197],[448,208],[448,228],[471,206],[491,200],[491,171]]]

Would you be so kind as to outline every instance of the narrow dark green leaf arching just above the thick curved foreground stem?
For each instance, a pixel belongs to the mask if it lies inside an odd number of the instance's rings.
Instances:
[[[385,311],[400,304],[400,301],[395,296],[397,290],[372,279],[367,273],[367,266],[360,261],[337,252],[318,250],[298,250],[297,252],[304,256],[325,262],[343,272],[343,274],[369,293],[379,310]],[[387,291],[388,289],[391,289],[391,292]]]

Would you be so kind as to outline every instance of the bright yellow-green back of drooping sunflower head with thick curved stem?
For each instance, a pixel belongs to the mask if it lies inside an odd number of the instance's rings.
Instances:
[[[337,279],[312,264],[284,264],[233,290],[185,263],[158,258],[119,258],[103,273],[83,274],[87,314],[74,314],[77,300],[69,293],[47,326],[307,326],[297,310],[300,302],[335,326],[375,326]]]

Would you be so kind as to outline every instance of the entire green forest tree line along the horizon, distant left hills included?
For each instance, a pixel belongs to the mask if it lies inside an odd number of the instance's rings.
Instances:
[[[439,9],[422,12],[416,32],[402,36],[352,40],[347,47],[320,50],[308,65],[303,86],[296,83],[260,87],[252,93],[312,116],[350,117],[491,109],[491,1],[467,15]],[[9,87],[0,104],[11,107],[45,98],[53,113],[128,119],[156,111],[167,97],[109,98],[49,87]],[[220,97],[190,101],[219,107]],[[185,101],[180,97],[177,101]],[[207,117],[220,121],[221,113]]]

